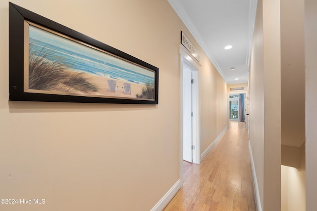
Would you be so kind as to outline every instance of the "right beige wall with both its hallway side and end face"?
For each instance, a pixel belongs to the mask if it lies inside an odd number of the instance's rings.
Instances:
[[[280,210],[280,5],[259,0],[250,64],[250,144],[262,210]]]

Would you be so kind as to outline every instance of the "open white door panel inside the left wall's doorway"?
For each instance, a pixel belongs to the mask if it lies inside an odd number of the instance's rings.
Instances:
[[[192,134],[192,70],[183,65],[183,159],[193,162],[193,134]]]

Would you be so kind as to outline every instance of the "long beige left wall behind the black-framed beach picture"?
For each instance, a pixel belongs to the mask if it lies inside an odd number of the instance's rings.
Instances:
[[[47,211],[151,210],[180,178],[181,31],[202,54],[201,151],[225,128],[225,82],[165,0],[12,2],[159,67],[159,105],[8,102],[0,0],[1,197],[44,198]]]

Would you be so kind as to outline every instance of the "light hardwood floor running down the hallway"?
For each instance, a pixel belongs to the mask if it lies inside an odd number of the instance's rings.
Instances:
[[[164,211],[256,211],[248,141],[245,124],[230,122],[202,163],[186,171]]]

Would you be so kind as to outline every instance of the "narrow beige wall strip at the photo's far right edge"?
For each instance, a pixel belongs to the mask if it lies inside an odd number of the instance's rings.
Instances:
[[[306,210],[317,207],[317,1],[305,0]]]

